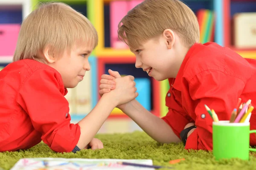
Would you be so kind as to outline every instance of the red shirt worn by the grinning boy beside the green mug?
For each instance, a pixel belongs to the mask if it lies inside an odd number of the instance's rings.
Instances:
[[[189,135],[186,149],[212,150],[212,118],[204,104],[214,109],[219,120],[230,120],[238,98],[256,106],[256,60],[245,59],[216,43],[195,44],[189,49],[176,78],[170,78],[166,95],[169,112],[163,120],[180,137],[186,124],[197,128]],[[252,112],[250,129],[256,129]],[[205,115],[205,116],[204,116]],[[250,145],[256,145],[255,134]]]

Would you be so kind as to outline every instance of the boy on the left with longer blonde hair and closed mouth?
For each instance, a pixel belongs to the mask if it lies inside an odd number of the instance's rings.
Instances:
[[[26,17],[14,62],[0,71],[0,152],[28,149],[41,140],[61,153],[103,148],[94,135],[111,111],[137,92],[134,77],[117,80],[115,90],[70,124],[64,95],[90,70],[88,57],[97,43],[90,21],[64,3],[42,4]]]

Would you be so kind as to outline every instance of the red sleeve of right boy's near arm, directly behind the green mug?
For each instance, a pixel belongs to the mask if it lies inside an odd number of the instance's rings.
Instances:
[[[229,120],[244,85],[240,78],[214,70],[201,72],[190,81],[189,94],[192,100],[198,101],[195,106],[197,128],[188,135],[186,149],[212,150],[213,120],[204,104],[214,109],[219,120]]]

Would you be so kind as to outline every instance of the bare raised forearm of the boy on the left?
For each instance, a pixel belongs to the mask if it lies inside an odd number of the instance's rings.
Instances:
[[[80,149],[83,149],[93,139],[115,107],[116,104],[111,101],[110,95],[103,95],[93,110],[78,122],[81,135],[77,146]]]

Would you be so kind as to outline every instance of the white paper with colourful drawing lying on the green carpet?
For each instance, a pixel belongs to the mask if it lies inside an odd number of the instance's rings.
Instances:
[[[118,162],[152,165],[150,159],[22,158],[11,170],[141,170]],[[143,168],[153,170],[153,168]]]

